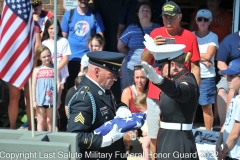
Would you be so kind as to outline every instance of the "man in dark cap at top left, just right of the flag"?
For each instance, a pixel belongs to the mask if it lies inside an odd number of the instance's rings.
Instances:
[[[38,22],[42,32],[44,31],[45,22],[48,18],[53,17],[53,13],[42,9],[41,0],[31,2],[33,8],[33,20]]]

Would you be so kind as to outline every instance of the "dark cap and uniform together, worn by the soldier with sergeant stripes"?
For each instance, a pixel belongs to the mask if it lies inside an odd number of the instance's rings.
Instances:
[[[88,57],[89,63],[106,68],[116,75],[120,68],[116,64],[121,64],[124,55],[103,51],[89,52]],[[83,77],[77,88],[77,95],[70,105],[67,131],[78,134],[81,160],[126,160],[122,138],[110,146],[101,148],[103,136],[93,132],[116,115],[118,105],[112,92],[110,90],[104,91],[87,76]],[[125,104],[121,103],[119,106],[122,105]]]

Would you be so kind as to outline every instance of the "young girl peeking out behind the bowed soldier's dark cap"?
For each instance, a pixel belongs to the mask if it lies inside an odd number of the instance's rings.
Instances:
[[[88,39],[88,48],[90,52],[102,51],[105,41],[101,34],[92,34]],[[78,73],[78,76],[83,75],[83,69],[88,66],[88,56],[85,54],[81,60],[81,68]]]

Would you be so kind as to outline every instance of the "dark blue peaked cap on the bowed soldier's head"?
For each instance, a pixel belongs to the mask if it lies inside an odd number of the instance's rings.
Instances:
[[[120,68],[125,55],[118,52],[96,51],[87,53],[89,63],[107,69],[120,77]]]

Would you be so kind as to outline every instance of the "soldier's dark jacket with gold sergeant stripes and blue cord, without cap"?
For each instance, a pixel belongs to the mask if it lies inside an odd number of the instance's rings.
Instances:
[[[92,124],[93,109],[91,99],[87,94],[88,91],[91,92],[96,103],[96,117],[94,124]],[[125,156],[123,139],[119,139],[110,146],[101,148],[102,136],[93,133],[95,129],[100,127],[105,122],[113,119],[115,116],[117,105],[114,104],[115,102],[112,99],[110,94],[111,92],[107,90],[106,93],[104,93],[99,86],[84,76],[82,82],[78,86],[78,93],[78,96],[75,100],[73,100],[70,108],[71,116],[68,122],[68,132],[78,133],[78,145],[80,148],[80,153],[82,153],[83,156],[82,160],[108,160],[110,158],[97,158],[95,151],[99,152],[101,155],[110,153],[112,154],[111,159],[114,160],[124,159],[120,157],[120,155],[122,157]],[[91,155],[90,151],[92,151],[92,158],[87,156]]]

